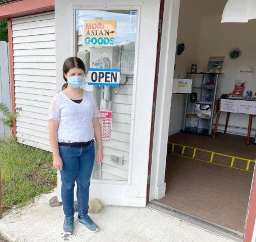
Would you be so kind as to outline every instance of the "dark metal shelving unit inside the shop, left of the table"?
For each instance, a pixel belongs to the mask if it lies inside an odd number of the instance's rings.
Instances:
[[[197,93],[197,100],[195,102],[191,103],[190,94],[186,94],[182,131],[211,135],[218,89],[218,78],[221,73],[188,72],[189,79],[191,79],[192,75],[202,76],[202,82],[201,85],[199,84],[200,86],[192,86],[194,92]],[[198,82],[198,80],[196,82]],[[201,114],[198,116],[195,113],[196,104],[211,105],[211,115]],[[186,125],[188,118],[197,119],[196,125],[193,125],[195,124],[195,120],[190,120],[190,125]]]

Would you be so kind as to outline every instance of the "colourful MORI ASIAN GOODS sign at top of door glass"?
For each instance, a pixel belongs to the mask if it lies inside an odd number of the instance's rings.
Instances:
[[[84,20],[84,45],[109,46],[116,41],[116,20]]]

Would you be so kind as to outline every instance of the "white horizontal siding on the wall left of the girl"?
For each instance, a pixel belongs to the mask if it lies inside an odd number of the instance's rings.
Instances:
[[[56,93],[54,12],[12,19],[17,140],[50,150],[48,107]]]

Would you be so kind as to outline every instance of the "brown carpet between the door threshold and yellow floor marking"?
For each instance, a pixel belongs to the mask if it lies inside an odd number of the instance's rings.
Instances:
[[[158,202],[243,233],[252,177],[248,171],[168,154],[166,196]]]

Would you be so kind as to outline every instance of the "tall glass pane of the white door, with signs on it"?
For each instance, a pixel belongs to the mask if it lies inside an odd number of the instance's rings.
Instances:
[[[101,111],[104,158],[92,178],[127,181],[134,86],[136,10],[76,10],[76,55],[86,67],[85,90]]]

